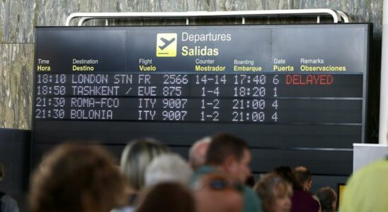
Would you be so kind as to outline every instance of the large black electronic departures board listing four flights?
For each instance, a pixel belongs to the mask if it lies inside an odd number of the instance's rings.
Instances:
[[[33,145],[364,142],[370,25],[37,28]]]

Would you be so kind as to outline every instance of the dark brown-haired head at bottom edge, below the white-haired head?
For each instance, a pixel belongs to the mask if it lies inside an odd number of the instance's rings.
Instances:
[[[195,212],[195,199],[180,183],[161,182],[139,196],[137,212]]]

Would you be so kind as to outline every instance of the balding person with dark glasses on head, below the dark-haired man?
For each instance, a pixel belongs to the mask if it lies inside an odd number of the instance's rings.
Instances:
[[[241,189],[227,175],[202,175],[193,183],[198,212],[240,212],[244,205]]]

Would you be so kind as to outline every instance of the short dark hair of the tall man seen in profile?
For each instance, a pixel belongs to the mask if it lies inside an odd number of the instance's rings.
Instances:
[[[234,156],[236,160],[241,160],[244,150],[249,147],[244,140],[229,134],[217,134],[212,138],[206,153],[206,164],[221,165],[229,156]]]

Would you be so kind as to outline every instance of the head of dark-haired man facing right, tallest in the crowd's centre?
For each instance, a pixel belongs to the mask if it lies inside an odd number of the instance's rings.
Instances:
[[[250,175],[251,153],[245,141],[229,134],[217,134],[207,150],[205,163],[222,168],[234,181],[244,183]]]

